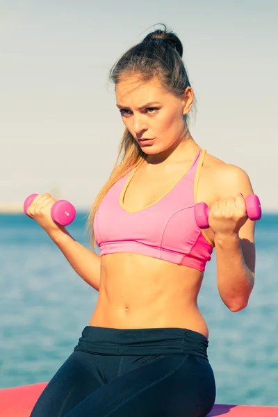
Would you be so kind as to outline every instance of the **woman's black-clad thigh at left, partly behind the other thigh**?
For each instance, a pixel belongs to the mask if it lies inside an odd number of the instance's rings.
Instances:
[[[30,417],[63,417],[105,384],[98,356],[73,352],[40,395]]]

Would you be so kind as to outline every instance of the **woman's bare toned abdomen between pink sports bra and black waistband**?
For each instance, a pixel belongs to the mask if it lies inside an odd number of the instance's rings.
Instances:
[[[208,337],[197,307],[202,272],[149,256],[101,257],[97,306],[90,325],[117,329],[181,327]]]

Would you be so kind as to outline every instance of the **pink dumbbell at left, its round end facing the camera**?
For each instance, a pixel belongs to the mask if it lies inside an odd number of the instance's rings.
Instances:
[[[31,194],[24,201],[23,210],[25,214],[27,214],[28,206],[30,206],[31,202],[33,202],[36,195],[38,194]],[[67,200],[58,200],[51,208],[52,220],[61,226],[67,226],[67,224],[73,222],[75,215],[76,211],[74,206],[70,202],[67,202]]]

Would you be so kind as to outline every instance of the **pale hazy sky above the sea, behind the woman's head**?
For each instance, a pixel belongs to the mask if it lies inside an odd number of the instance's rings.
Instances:
[[[277,0],[0,0],[0,206],[90,208],[124,129],[108,72],[159,23],[183,43],[193,138],[278,211]]]

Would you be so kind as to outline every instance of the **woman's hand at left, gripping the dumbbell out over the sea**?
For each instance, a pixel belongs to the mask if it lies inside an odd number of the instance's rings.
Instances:
[[[40,227],[44,229],[52,238],[61,231],[65,232],[65,226],[61,226],[54,222],[51,218],[51,208],[56,202],[56,199],[51,197],[49,193],[44,195],[36,195],[30,206],[27,208],[27,214],[35,220]]]

